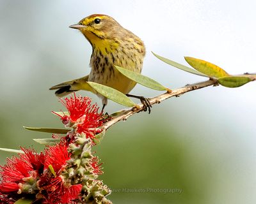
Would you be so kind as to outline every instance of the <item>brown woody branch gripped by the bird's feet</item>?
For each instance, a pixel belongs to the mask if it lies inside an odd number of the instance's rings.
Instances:
[[[210,79],[210,80],[207,80],[205,82],[200,82],[200,83],[196,83],[196,84],[189,84],[189,85],[186,85],[185,87],[172,90],[172,92],[165,92],[164,94],[160,94],[159,96],[156,96],[154,98],[149,98],[149,102],[150,102],[151,105],[154,105],[156,103],[161,103],[161,101],[164,101],[168,98],[172,98],[173,96],[180,96],[180,95],[182,95],[186,92],[189,92],[189,91],[193,91],[193,90],[196,90],[196,89],[202,89],[202,88],[208,87],[210,85],[216,85],[216,83],[217,83],[217,80]],[[116,124],[116,122],[119,122],[121,120],[127,120],[127,118],[130,117],[131,115],[134,115],[135,113],[138,113],[138,112],[141,112],[141,111],[143,111],[143,105],[142,104],[138,105],[138,108],[133,107],[133,108],[121,110],[120,112],[115,113],[115,115],[111,115],[113,117],[113,119],[108,120],[102,126],[102,128],[104,130],[107,130],[111,126]]]

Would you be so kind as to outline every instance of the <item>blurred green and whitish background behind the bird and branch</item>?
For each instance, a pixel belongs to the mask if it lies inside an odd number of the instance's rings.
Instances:
[[[86,75],[92,48],[68,28],[92,13],[114,17],[144,40],[143,74],[175,89],[205,78],[179,71],[150,51],[183,55],[228,73],[255,72],[255,1],[0,1],[0,146],[42,145],[49,134],[22,126],[62,127],[63,107],[49,87]],[[208,87],[156,105],[109,129],[95,147],[114,203],[255,203],[255,83]],[[79,92],[100,99],[90,93]],[[137,85],[132,94],[161,92]],[[124,108],[109,102],[111,113]],[[1,164],[12,154],[1,152]],[[143,191],[128,193],[127,191]],[[148,192],[148,189],[152,189]],[[180,189],[182,193],[152,192]]]

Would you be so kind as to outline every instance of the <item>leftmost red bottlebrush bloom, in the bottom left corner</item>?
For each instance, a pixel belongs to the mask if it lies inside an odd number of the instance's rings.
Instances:
[[[36,181],[44,171],[44,154],[22,148],[24,154],[7,159],[0,166],[0,201],[14,203],[24,194],[36,194]],[[0,203],[1,203],[0,202]]]

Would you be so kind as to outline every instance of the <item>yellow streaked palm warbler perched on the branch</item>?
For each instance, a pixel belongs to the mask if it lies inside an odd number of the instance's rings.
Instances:
[[[69,82],[54,85],[50,89],[58,89],[56,96],[65,96],[70,92],[86,90],[97,94],[102,98],[102,105],[107,105],[108,99],[86,82],[97,82],[117,89],[127,96],[140,98],[141,102],[150,111],[147,99],[140,96],[129,95],[136,82],[119,73],[114,65],[141,73],[145,47],[143,41],[135,34],[128,31],[116,20],[108,15],[93,14],[80,20],[78,24],[70,25],[70,28],[78,29],[92,45],[90,60],[90,74]],[[102,108],[102,110],[103,110]]]

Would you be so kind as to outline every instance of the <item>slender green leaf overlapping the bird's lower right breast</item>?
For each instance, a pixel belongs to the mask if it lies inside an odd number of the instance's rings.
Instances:
[[[166,91],[166,87],[159,84],[152,78],[146,77],[144,75],[141,75],[140,73],[136,73],[134,71],[121,68],[120,66],[115,66],[115,68],[122,73],[122,75],[125,75],[125,77],[130,78],[134,82],[137,82],[138,84],[144,85],[145,87],[148,87],[150,89],[155,89],[159,91]]]

